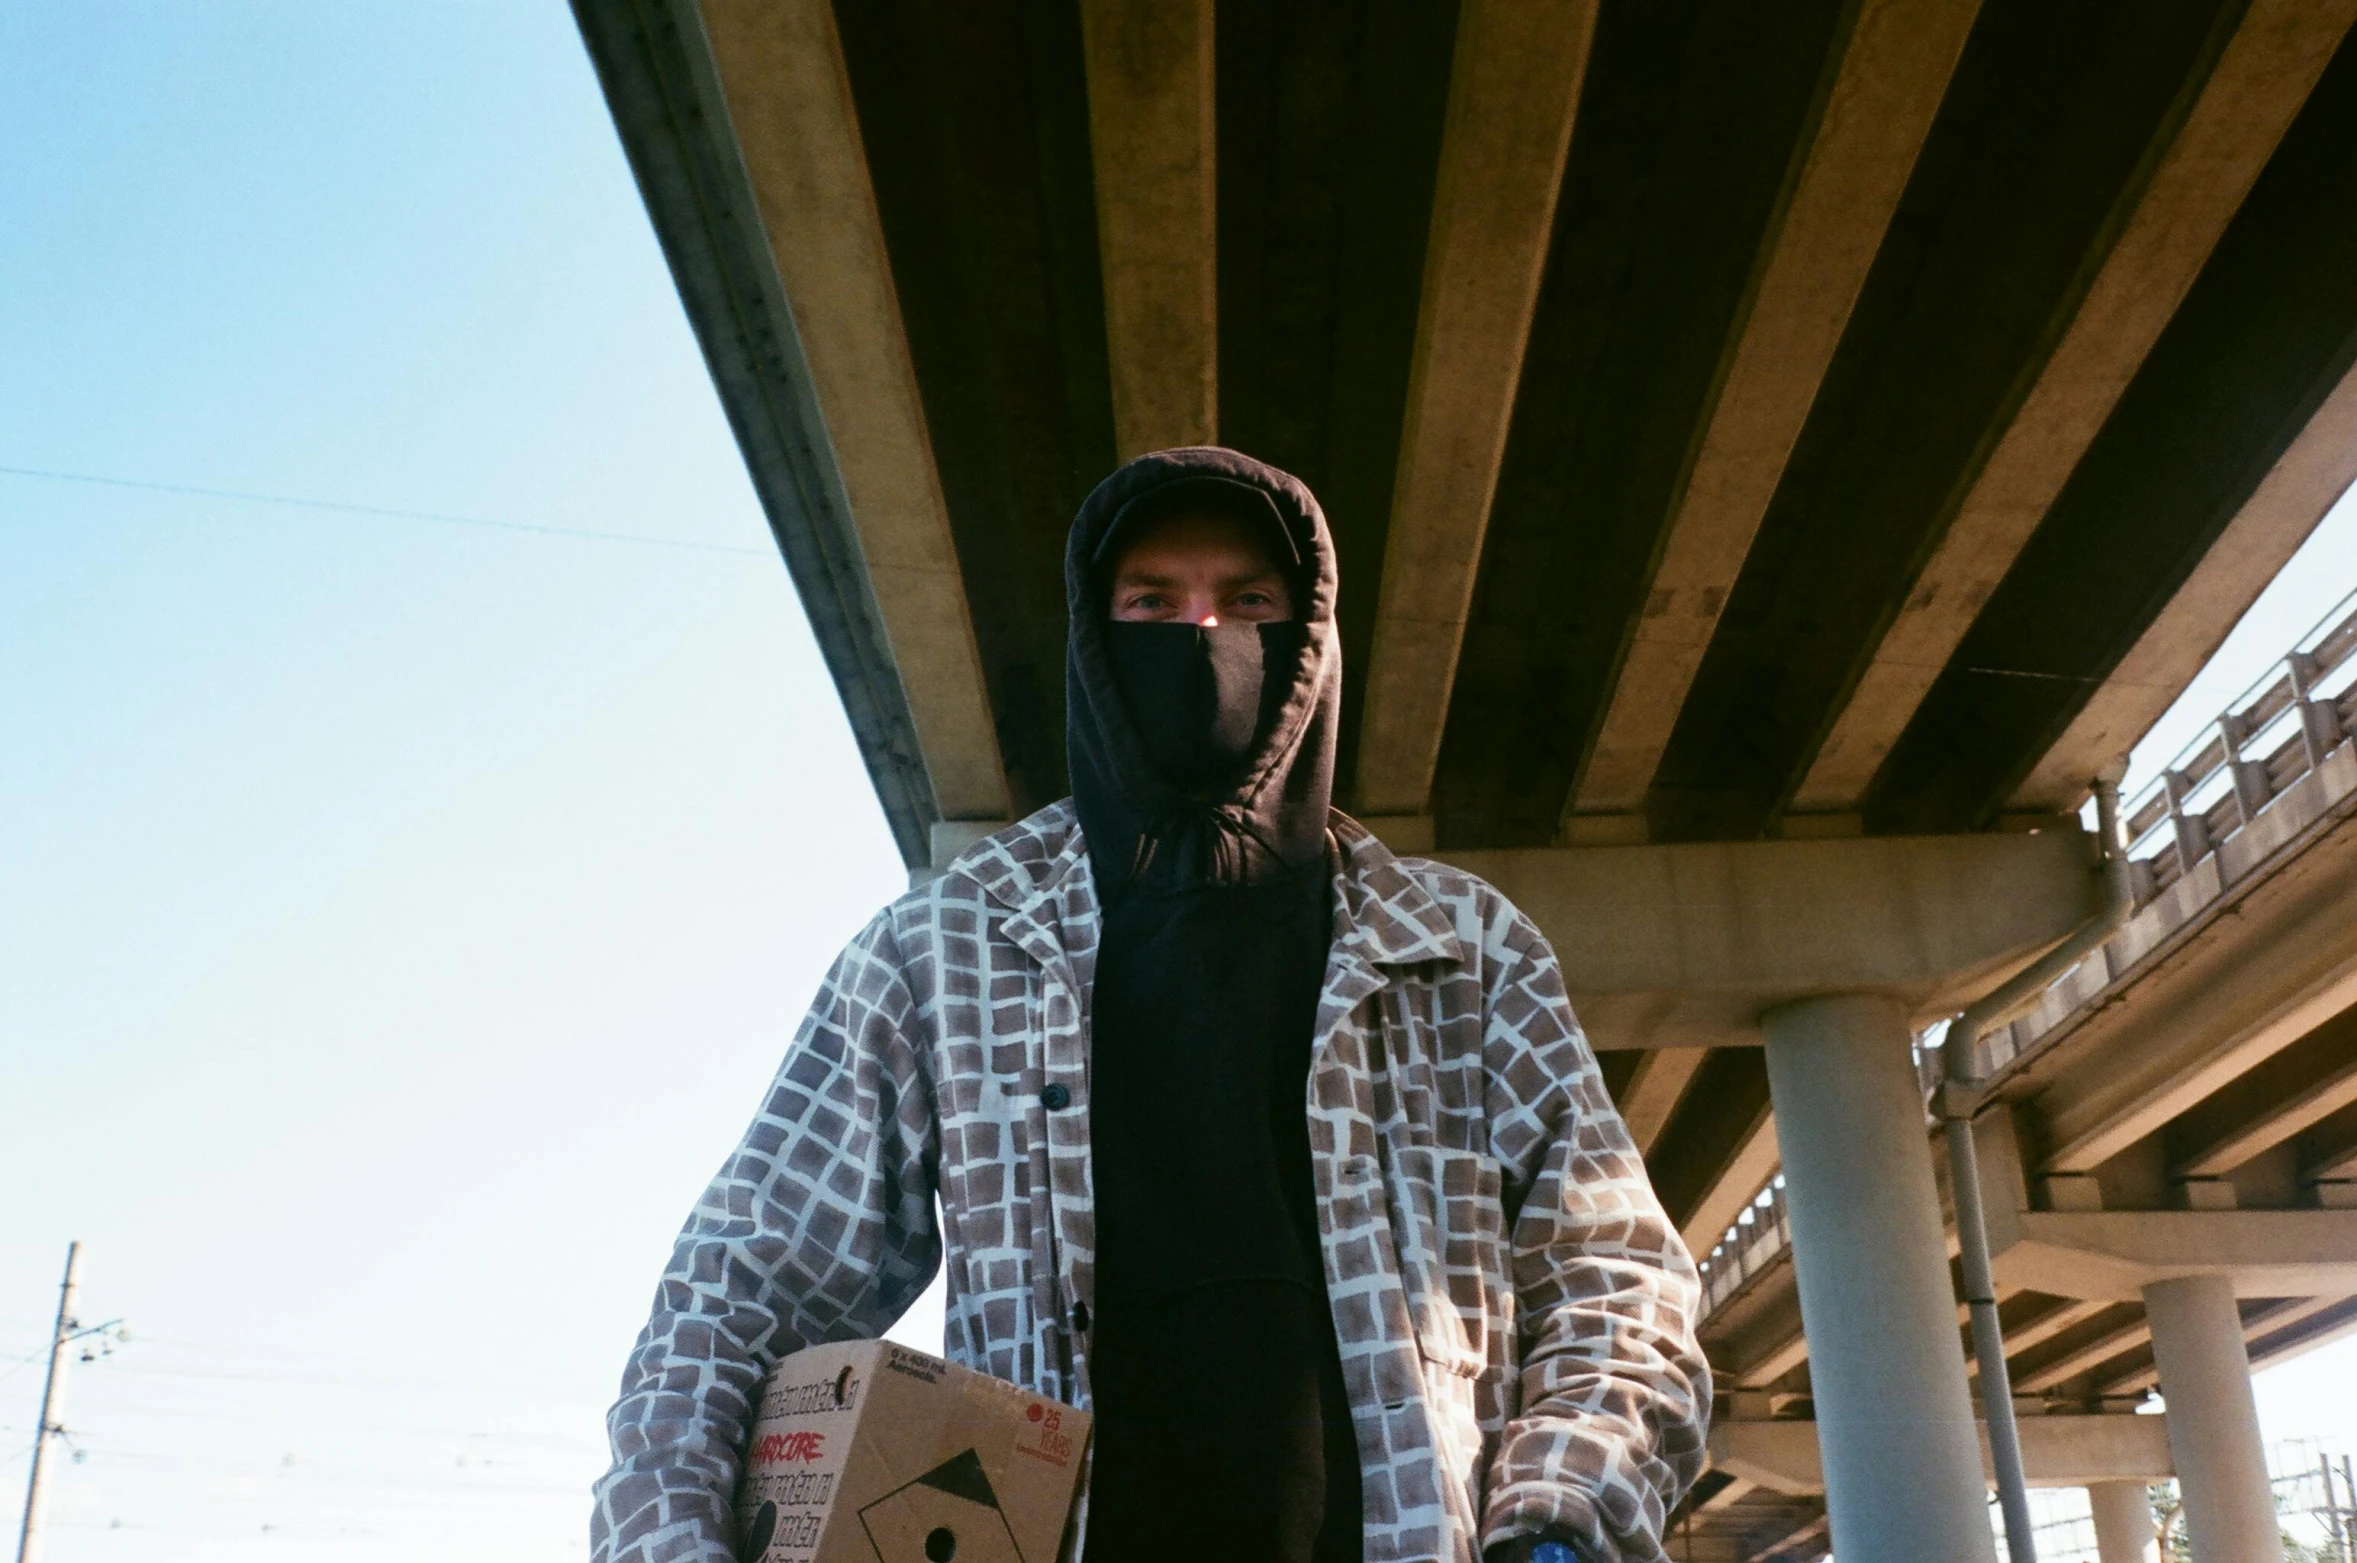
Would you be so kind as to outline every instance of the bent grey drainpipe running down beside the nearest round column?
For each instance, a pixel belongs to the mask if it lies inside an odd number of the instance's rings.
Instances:
[[[2112,761],[2095,778],[2095,839],[2102,851],[2102,905],[2069,938],[1985,992],[1947,1028],[1940,1044],[1945,1084],[1940,1087],[1940,1122],[1947,1139],[1947,1172],[1956,1198],[1956,1247],[1963,1271],[1963,1301],[1973,1313],[1973,1363],[1980,1370],[1980,1405],[1989,1426],[1989,1464],[1996,1471],[1996,1504],[2006,1516],[2006,1554],[2013,1563],[2036,1563],[2029,1539],[2029,1483],[2022,1473],[2022,1433],[2013,1424],[2013,1377],[2006,1372],[2006,1334],[1996,1320],[1996,1278],[1989,1273],[1989,1226],[1980,1205],[1980,1155],[1973,1148],[1973,1113],[1980,1110],[1980,1080],[1973,1075],[1973,1047],[1996,1023],[2027,1009],[2046,988],[2079,964],[2088,950],[2110,938],[2135,910],[2128,884],[2128,853],[2119,839],[2119,783],[2126,761]]]

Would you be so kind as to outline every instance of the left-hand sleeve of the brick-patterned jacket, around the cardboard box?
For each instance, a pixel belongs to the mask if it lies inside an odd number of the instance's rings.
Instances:
[[[728,1509],[771,1365],[879,1337],[940,1264],[933,1092],[889,917],[837,957],[679,1233],[606,1414],[592,1563],[733,1563]]]

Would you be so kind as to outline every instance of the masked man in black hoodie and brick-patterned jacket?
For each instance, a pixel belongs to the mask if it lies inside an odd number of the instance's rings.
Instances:
[[[1117,611],[1207,519],[1282,613]],[[596,1563],[731,1558],[761,1377],[936,1268],[952,1360],[1096,1412],[1063,1563],[1664,1558],[1692,1261],[1544,936],[1332,809],[1336,582],[1240,453],[1089,495],[1072,797],[837,959],[629,1358]]]

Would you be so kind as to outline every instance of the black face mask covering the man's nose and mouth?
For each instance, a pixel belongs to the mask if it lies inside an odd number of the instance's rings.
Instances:
[[[1219,797],[1268,738],[1301,662],[1301,625],[1105,625],[1105,660],[1155,771]]]

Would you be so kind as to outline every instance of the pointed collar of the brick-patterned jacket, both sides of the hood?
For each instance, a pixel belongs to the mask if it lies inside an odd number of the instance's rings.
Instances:
[[[1336,846],[1334,943],[1374,967],[1461,962],[1464,938],[1447,908],[1433,898],[1398,856],[1341,809],[1329,816]],[[1056,952],[1072,943],[1056,924],[1070,912],[1091,919],[1096,877],[1080,835],[1072,799],[1049,804],[997,835],[983,837],[950,865],[1011,912],[1006,934],[1030,948],[1047,941]],[[1035,950],[1037,952],[1037,950]]]

